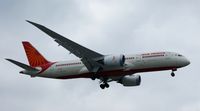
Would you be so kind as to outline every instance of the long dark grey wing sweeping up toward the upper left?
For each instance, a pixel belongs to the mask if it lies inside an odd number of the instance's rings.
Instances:
[[[97,53],[95,51],[92,51],[84,46],[81,46],[62,35],[46,28],[43,25],[28,21],[30,24],[36,26],[41,31],[52,37],[59,45],[63,46],[65,49],[69,50],[70,53],[73,53],[77,57],[81,58],[81,61],[83,64],[87,67],[87,69],[91,72],[97,72],[97,70],[102,66],[97,60],[100,58],[103,58],[104,55]]]

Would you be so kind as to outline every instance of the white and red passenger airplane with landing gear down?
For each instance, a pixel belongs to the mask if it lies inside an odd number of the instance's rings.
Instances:
[[[175,52],[103,55],[69,40],[43,25],[26,21],[49,35],[60,46],[79,58],[79,60],[51,62],[37,51],[31,43],[22,41],[30,66],[12,59],[6,58],[6,60],[24,69],[19,73],[31,77],[99,79],[100,88],[105,89],[109,87],[108,83],[112,81],[126,87],[139,86],[141,76],[136,73],[171,70],[171,76],[174,77],[174,71],[190,64],[186,57]]]

